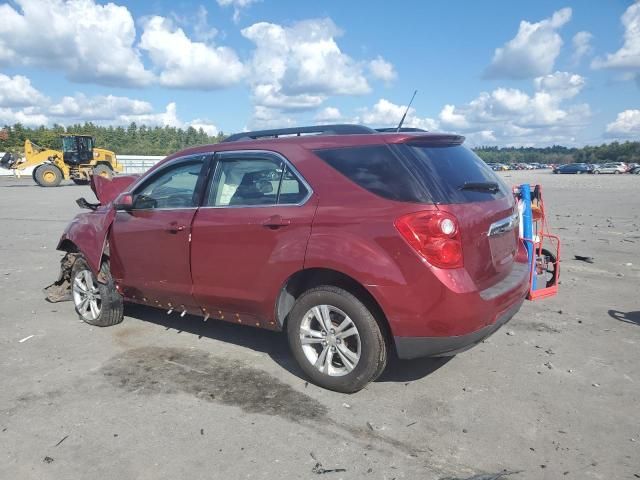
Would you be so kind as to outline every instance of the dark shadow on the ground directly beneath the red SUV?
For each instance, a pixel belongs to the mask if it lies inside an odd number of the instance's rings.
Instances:
[[[161,325],[178,334],[187,333],[231,343],[269,355],[278,365],[292,375],[307,380],[289,351],[286,335],[246,325],[236,325],[219,320],[203,321],[202,317],[174,313],[167,315],[163,310],[142,305],[127,305],[125,315],[144,322]],[[416,360],[398,360],[395,355],[389,358],[387,368],[377,382],[411,382],[424,378],[444,366],[450,357],[422,358]]]

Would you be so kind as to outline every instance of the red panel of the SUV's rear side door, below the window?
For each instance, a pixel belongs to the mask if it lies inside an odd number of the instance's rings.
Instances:
[[[198,210],[191,245],[196,303],[273,321],[280,288],[304,266],[316,204],[314,197],[302,207]]]

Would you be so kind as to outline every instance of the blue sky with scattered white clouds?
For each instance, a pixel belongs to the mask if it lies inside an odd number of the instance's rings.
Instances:
[[[0,0],[0,125],[640,140],[640,0]]]

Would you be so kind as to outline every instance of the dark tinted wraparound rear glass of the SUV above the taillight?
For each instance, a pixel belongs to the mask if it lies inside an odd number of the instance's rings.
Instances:
[[[362,188],[389,200],[469,203],[509,192],[491,168],[462,145],[374,145],[315,153]],[[497,190],[482,188],[487,184],[497,185]]]

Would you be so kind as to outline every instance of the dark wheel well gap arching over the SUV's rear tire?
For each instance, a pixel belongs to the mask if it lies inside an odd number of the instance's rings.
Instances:
[[[371,311],[380,323],[383,334],[387,340],[392,338],[387,317],[373,295],[357,280],[344,273],[328,268],[309,268],[301,270],[289,277],[280,290],[278,301],[276,302],[275,316],[281,328],[285,327],[287,316],[289,312],[291,312],[296,299],[307,290],[320,285],[333,285],[351,293]]]

